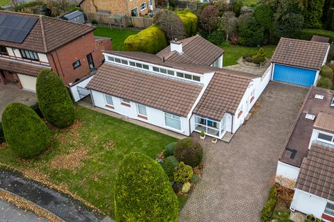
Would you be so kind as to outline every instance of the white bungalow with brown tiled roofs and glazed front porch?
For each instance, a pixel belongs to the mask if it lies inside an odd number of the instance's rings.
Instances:
[[[221,69],[223,50],[200,36],[170,42],[152,55],[104,51],[86,86],[93,104],[189,136],[235,133],[267,86],[263,76]]]

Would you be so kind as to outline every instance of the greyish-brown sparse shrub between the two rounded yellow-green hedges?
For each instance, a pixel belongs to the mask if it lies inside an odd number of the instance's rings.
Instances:
[[[154,15],[154,23],[164,31],[168,40],[174,40],[175,38],[182,40],[186,35],[182,20],[171,10],[159,10]]]

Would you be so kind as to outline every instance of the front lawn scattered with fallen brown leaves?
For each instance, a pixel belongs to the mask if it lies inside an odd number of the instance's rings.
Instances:
[[[76,114],[78,121],[72,127],[51,128],[51,148],[45,154],[22,161],[0,147],[0,163],[37,178],[47,176],[114,217],[113,189],[123,157],[138,151],[155,158],[177,139],[80,106]]]

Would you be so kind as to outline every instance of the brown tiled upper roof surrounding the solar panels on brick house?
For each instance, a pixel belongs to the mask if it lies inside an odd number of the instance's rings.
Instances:
[[[44,15],[0,11],[0,15],[6,14],[15,15],[17,17],[35,17],[38,19],[22,43],[0,40],[0,45],[10,46],[17,49],[48,53],[95,30],[95,27],[93,26],[69,22]]]

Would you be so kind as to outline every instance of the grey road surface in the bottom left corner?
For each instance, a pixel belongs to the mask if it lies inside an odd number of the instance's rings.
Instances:
[[[33,212],[24,210],[0,199],[0,221],[6,222],[48,222]]]

